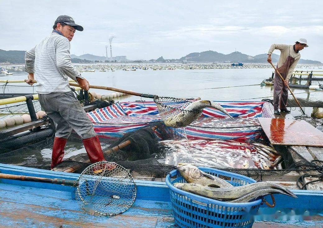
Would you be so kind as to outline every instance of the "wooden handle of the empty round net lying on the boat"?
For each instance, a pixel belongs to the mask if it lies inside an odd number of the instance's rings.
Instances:
[[[0,173],[0,178],[17,180],[17,181],[31,181],[31,182],[50,183],[50,184],[60,184],[60,185],[72,186],[72,187],[78,186],[78,181],[57,179],[57,178],[51,179],[51,178],[44,178],[44,177],[32,177],[32,176],[13,175],[13,174],[5,174],[5,173]]]

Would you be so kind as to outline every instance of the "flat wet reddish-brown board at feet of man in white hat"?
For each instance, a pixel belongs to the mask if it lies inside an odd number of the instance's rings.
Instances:
[[[304,120],[258,118],[273,145],[323,147],[323,132]]]

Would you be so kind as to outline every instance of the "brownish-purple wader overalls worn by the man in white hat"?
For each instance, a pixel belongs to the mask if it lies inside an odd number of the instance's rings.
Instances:
[[[295,58],[288,56],[283,66],[277,68],[281,76],[286,79],[289,67],[293,64]],[[274,78],[274,110],[287,109],[288,88],[284,85],[282,79],[275,71]]]

